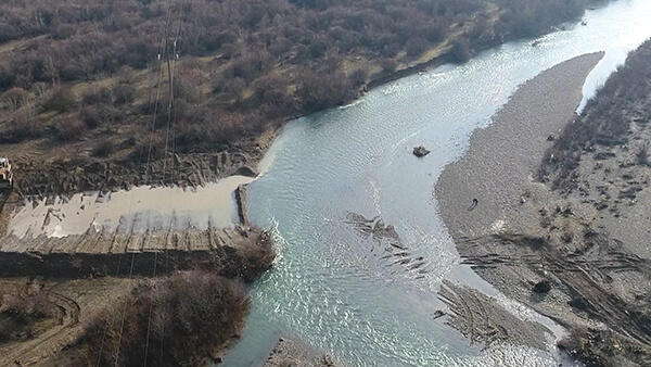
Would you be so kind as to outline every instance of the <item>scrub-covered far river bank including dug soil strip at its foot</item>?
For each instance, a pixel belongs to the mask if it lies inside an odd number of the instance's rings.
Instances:
[[[39,9],[38,3],[33,5]],[[13,21],[0,40],[7,42],[0,47],[0,148],[11,152],[24,194],[200,186],[232,174],[255,176],[266,136],[272,140],[286,121],[346,104],[365,84],[376,86],[427,65],[467,61],[506,40],[549,33],[600,1],[169,4],[168,11],[180,13],[179,31],[184,17],[202,18],[186,24],[195,27],[190,31],[195,36],[179,45],[178,58],[167,60],[167,66],[178,60],[171,67],[178,72],[174,96],[166,96],[166,87],[158,92],[173,75],[159,73],[165,58],[154,61],[167,47],[154,50],[153,28],[165,22],[164,11],[159,4],[130,3],[127,11],[92,1],[88,5],[103,15],[74,22],[64,14],[77,10],[65,3],[43,15],[52,17],[47,25],[30,30],[10,26],[29,23],[29,7],[3,8]],[[261,14],[269,20],[261,22]],[[282,26],[275,23],[281,16]],[[125,22],[107,21],[118,17]],[[80,37],[84,31],[72,31],[76,28],[100,29],[92,37],[101,40],[90,42]],[[80,47],[84,41],[90,43]],[[56,52],[46,61],[48,50]]]

